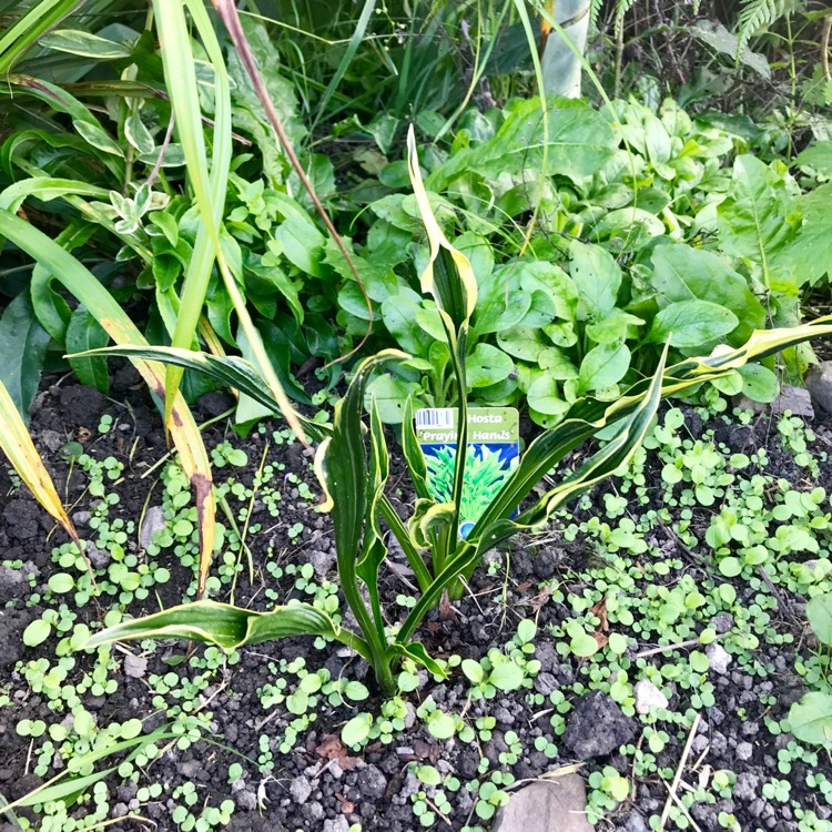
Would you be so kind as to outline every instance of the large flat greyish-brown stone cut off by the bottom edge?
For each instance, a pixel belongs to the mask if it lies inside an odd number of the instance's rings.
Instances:
[[[587,792],[578,774],[539,780],[511,794],[494,832],[592,832],[587,821]]]

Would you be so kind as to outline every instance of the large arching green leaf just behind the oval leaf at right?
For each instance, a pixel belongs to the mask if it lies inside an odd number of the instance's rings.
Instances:
[[[730,310],[739,318],[727,334],[732,344],[741,344],[765,322],[765,310],[745,278],[717,254],[689,245],[660,245],[652,254],[650,285],[660,307],[681,301],[708,301]],[[700,342],[704,343],[704,342]],[[679,346],[676,337],[673,345]]]

